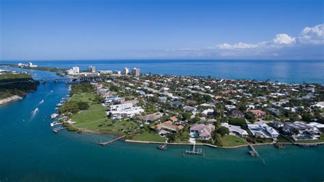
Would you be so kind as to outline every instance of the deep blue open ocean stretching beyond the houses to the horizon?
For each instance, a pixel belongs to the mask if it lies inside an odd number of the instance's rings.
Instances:
[[[324,84],[324,60],[84,60],[33,61],[33,64],[61,68],[80,66],[83,70],[90,65],[96,66],[97,70],[137,67],[142,73]]]

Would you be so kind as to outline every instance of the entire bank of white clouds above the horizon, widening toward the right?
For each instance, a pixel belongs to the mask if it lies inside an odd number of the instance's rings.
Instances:
[[[305,27],[299,36],[294,37],[288,34],[276,34],[271,40],[235,44],[217,44],[215,46],[202,49],[178,49],[192,57],[196,56],[221,56],[221,57],[241,57],[241,56],[264,56],[264,57],[322,57],[323,59],[323,34],[324,24],[314,27]],[[199,54],[199,55],[198,55]]]

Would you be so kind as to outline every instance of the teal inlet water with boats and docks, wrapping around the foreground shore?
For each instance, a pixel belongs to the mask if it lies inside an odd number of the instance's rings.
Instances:
[[[37,79],[57,77],[31,73]],[[68,131],[55,135],[49,116],[67,93],[64,83],[40,84],[25,99],[0,107],[0,181],[324,180],[324,146],[256,146],[258,158],[247,154],[249,148],[203,147],[202,158],[184,157],[187,146],[169,146],[167,151],[125,142],[98,146],[96,142],[113,136]],[[36,107],[39,112],[33,116]]]

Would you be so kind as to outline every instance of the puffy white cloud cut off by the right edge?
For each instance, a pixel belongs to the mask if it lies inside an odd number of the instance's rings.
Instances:
[[[324,24],[303,28],[299,34],[299,41],[310,44],[324,44]]]

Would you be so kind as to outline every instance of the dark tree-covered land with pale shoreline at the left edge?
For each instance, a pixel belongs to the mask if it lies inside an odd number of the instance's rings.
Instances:
[[[35,91],[38,84],[26,72],[0,70],[0,105],[23,99]]]

